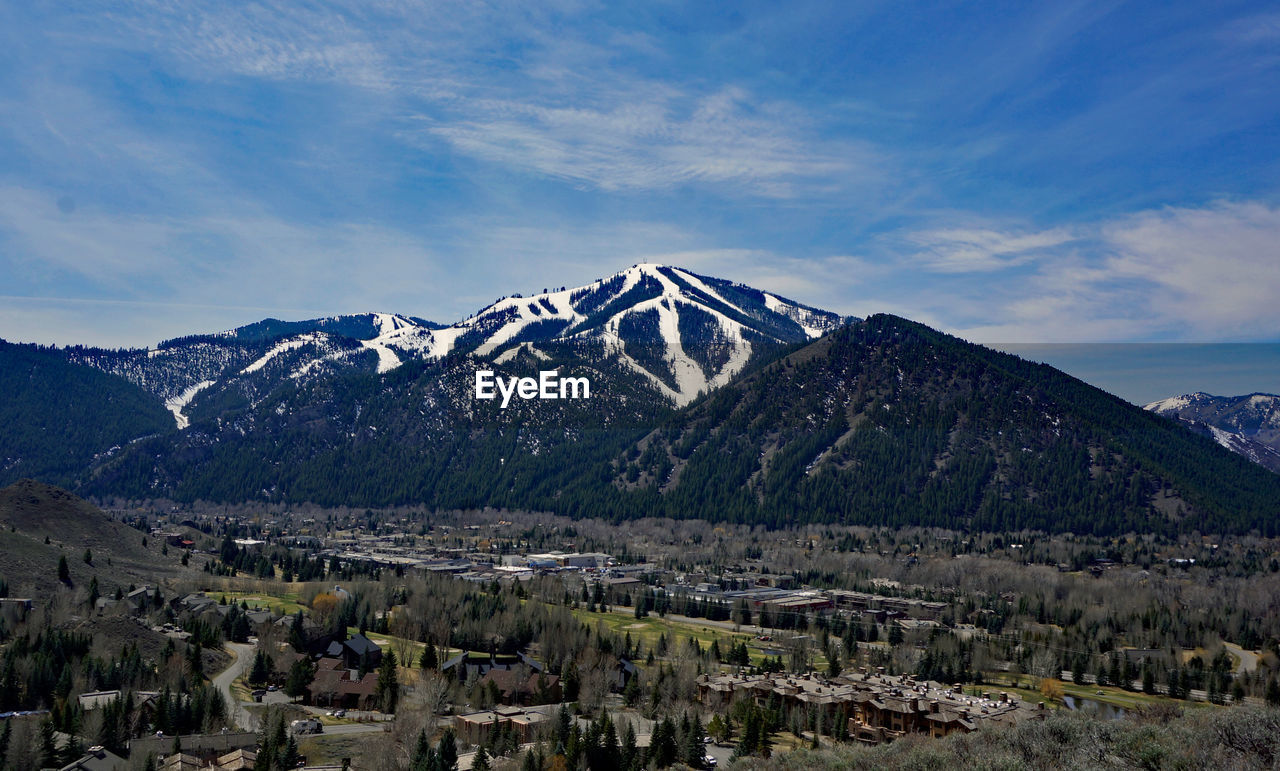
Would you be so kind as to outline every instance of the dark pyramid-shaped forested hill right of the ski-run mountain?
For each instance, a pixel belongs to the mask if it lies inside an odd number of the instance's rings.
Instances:
[[[1050,366],[879,315],[676,414],[608,510],[1080,533],[1276,532],[1280,478]]]

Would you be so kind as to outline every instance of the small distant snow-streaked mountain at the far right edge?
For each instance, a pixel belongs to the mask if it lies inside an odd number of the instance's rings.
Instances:
[[[1151,402],[1146,409],[1181,420],[1222,447],[1280,473],[1280,396],[1197,392]]]

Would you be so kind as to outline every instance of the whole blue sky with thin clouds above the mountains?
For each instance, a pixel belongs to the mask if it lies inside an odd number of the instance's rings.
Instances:
[[[1274,4],[4,3],[0,115],[6,339],[663,261],[979,342],[1280,341]]]

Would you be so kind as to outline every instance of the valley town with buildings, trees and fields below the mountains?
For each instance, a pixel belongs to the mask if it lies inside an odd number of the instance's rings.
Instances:
[[[709,767],[1016,731],[1073,710],[1280,702],[1280,619],[1231,626],[1187,590],[1194,571],[1267,546],[1249,539],[699,521],[637,523],[623,539],[602,521],[497,511],[111,514],[187,572],[99,583],[84,622],[165,640],[159,660],[186,693],[163,678],[72,676],[74,708],[42,712],[58,704],[15,686],[6,710],[72,736],[58,757],[232,770],[266,752],[337,768],[388,745],[476,768],[557,753],[605,767],[602,752],[625,757],[616,767]],[[1274,575],[1224,575],[1222,590]],[[1096,615],[1119,587],[1138,617],[1181,587],[1184,628],[1082,634],[1085,616],[1071,616]],[[4,608],[13,629],[51,612],[38,597]]]

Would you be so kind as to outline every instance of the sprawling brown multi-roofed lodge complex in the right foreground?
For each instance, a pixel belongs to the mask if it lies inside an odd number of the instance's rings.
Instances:
[[[849,736],[867,743],[891,742],[906,734],[946,736],[983,725],[1014,725],[1041,720],[1044,704],[1020,701],[1014,694],[964,694],[959,685],[886,675],[883,669],[826,679],[814,675],[701,675],[698,693],[703,704],[723,711],[744,698],[760,706],[781,704],[785,711],[818,711],[826,725],[844,724]]]

